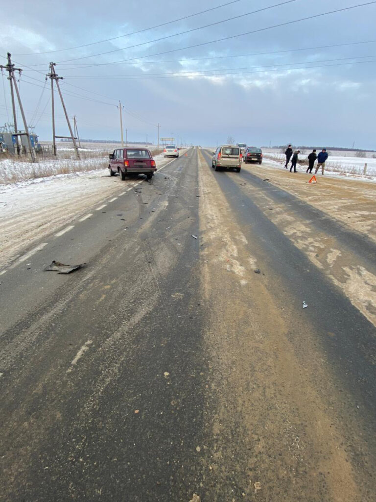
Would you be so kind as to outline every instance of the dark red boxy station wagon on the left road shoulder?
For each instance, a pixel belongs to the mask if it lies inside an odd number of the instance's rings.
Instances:
[[[145,174],[149,180],[156,171],[155,160],[147,148],[119,148],[109,155],[110,176],[119,173],[120,179],[132,174]]]

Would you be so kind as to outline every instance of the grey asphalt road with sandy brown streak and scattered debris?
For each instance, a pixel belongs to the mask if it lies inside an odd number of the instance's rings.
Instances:
[[[373,244],[210,165],[119,181],[0,276],[0,500],[374,500],[375,327],[260,201],[376,273]]]

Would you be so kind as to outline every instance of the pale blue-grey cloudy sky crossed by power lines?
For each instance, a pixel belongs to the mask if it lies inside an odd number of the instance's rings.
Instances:
[[[11,52],[16,66],[24,69],[21,96],[40,141],[51,140],[52,135],[50,81],[44,90],[43,86],[49,62],[54,61],[56,72],[64,76],[61,87],[69,116],[77,116],[82,138],[119,140],[116,100],[121,99],[126,107],[124,129],[131,141],[145,140],[148,134],[156,142],[153,124],[159,122],[160,136],[172,133],[175,139],[179,135],[196,145],[215,146],[232,136],[236,142],[257,146],[292,142],[351,147],[355,142],[355,147],[375,149],[375,3],[208,43],[367,0],[294,0],[248,14],[282,1],[239,0],[159,28],[152,27],[228,0],[24,1],[16,11],[2,10],[1,64]],[[222,22],[236,16],[240,17]],[[217,22],[221,23],[152,42]],[[72,48],[114,37],[121,38]],[[204,45],[186,48],[198,44]],[[353,45],[317,48],[334,44]],[[58,52],[39,54],[46,51]],[[120,60],[128,61],[103,64]],[[218,71],[203,74],[204,70]],[[0,125],[12,122],[6,76],[3,84]],[[68,128],[60,103],[55,102],[57,134],[64,136]]]

